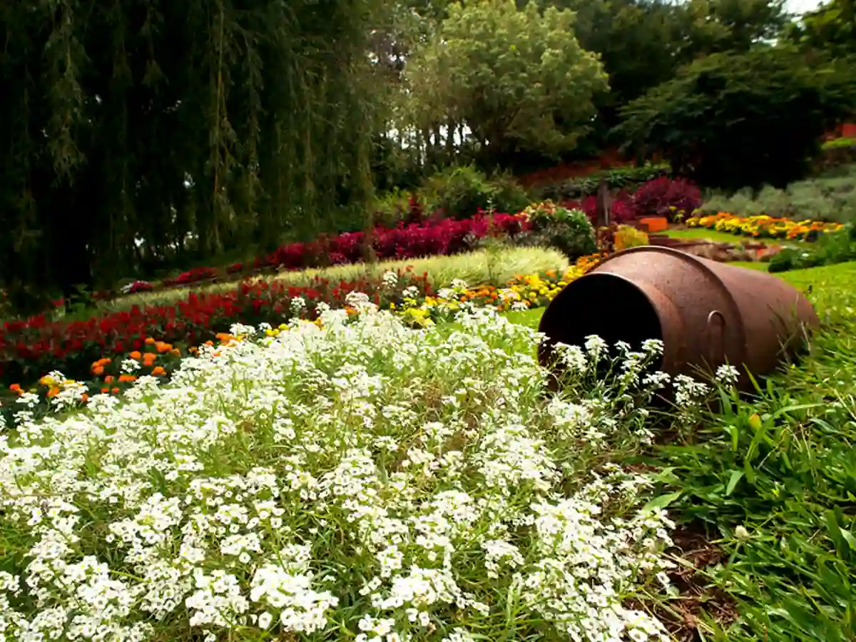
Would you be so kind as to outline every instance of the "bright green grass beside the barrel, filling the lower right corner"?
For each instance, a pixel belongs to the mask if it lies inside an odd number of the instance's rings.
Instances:
[[[639,455],[679,524],[679,639],[856,639],[856,263],[776,276],[822,314],[809,354]]]

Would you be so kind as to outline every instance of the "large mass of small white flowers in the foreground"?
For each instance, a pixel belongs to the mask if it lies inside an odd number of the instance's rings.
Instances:
[[[667,639],[631,598],[663,581],[671,524],[640,510],[645,479],[591,470],[647,438],[644,355],[608,387],[586,378],[603,346],[568,350],[556,396],[535,333],[491,312],[448,337],[323,322],[22,410],[0,437],[0,640]]]

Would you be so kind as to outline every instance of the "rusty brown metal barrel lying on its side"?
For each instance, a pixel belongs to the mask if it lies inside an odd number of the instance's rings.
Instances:
[[[582,345],[597,335],[638,348],[663,341],[657,368],[698,376],[731,364],[763,376],[794,356],[819,324],[805,296],[776,276],[701,259],[669,247],[633,247],[603,259],[556,295],[538,330],[550,365],[556,342]]]

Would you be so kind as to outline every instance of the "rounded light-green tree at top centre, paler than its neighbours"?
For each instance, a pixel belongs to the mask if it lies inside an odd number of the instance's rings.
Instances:
[[[514,0],[455,3],[407,64],[416,128],[465,124],[485,157],[564,152],[586,131],[603,66],[573,34],[570,11]],[[447,133],[448,135],[448,133]]]

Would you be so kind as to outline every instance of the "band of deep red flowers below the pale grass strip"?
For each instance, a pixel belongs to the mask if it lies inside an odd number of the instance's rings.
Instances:
[[[430,293],[427,275],[402,275],[404,286],[415,285]],[[86,321],[51,322],[45,315],[0,326],[0,381],[27,384],[47,372],[84,379],[92,362],[106,356],[140,350],[148,337],[184,345],[199,345],[235,323],[280,324],[291,316],[295,297],[306,301],[307,318],[313,318],[320,302],[342,307],[350,292],[373,295],[381,305],[400,295],[383,290],[379,281],[330,282],[316,279],[309,287],[296,288],[282,282],[241,282],[225,294],[188,294],[169,306],[134,306]]]

